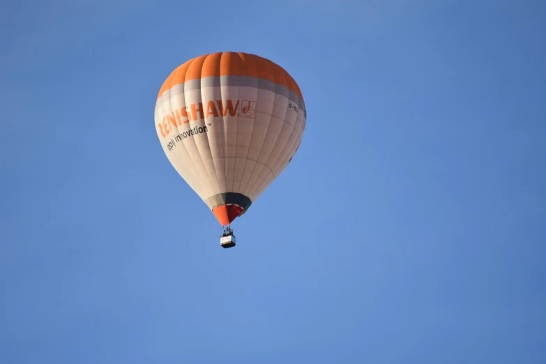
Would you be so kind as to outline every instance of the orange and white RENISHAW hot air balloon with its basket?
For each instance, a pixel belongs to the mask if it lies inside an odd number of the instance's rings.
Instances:
[[[287,167],[307,113],[298,84],[254,54],[204,54],[176,68],[160,88],[155,123],[165,155],[224,227]]]

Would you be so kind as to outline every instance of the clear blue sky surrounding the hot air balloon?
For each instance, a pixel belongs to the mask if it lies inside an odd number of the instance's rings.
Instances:
[[[4,1],[0,363],[546,363],[544,1]],[[153,123],[218,51],[308,107],[236,248]]]

